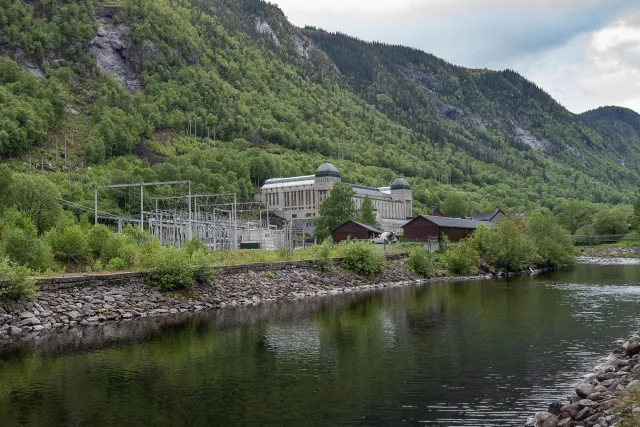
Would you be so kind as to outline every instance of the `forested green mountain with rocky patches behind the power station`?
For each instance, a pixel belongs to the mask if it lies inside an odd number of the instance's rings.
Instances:
[[[40,160],[74,202],[178,179],[248,200],[325,157],[350,182],[406,176],[417,211],[451,191],[476,209],[630,203],[640,183],[631,116],[577,116],[513,71],[297,28],[260,0],[0,6],[0,156]]]

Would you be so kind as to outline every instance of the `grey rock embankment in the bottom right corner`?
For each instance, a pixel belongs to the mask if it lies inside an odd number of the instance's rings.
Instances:
[[[634,335],[602,360],[594,373],[575,388],[567,402],[555,402],[539,412],[527,427],[610,427],[621,419],[616,405],[621,394],[640,390],[640,336]],[[640,404],[637,410],[640,412]],[[634,409],[636,411],[636,409]]]

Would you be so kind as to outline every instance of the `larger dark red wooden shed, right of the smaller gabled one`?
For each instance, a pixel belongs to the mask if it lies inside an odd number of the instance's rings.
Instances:
[[[421,215],[406,223],[402,229],[405,240],[409,242],[439,242],[445,236],[452,242],[458,242],[473,234],[480,224],[491,226],[490,222],[485,221]]]

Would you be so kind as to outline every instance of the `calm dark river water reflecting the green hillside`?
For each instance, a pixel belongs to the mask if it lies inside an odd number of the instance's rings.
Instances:
[[[580,266],[79,329],[0,355],[0,425],[522,425],[640,329],[639,278]]]

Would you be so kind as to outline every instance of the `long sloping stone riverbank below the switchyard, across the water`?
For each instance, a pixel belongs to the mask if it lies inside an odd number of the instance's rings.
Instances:
[[[172,316],[225,307],[251,306],[441,280],[485,280],[491,274],[422,279],[405,266],[405,255],[391,255],[384,272],[365,278],[340,267],[330,272],[310,261],[260,263],[218,268],[215,283],[175,293],[161,293],[145,283],[145,273],[84,274],[40,279],[32,302],[0,306],[0,346],[67,330],[153,316]],[[527,270],[535,275],[544,270]]]

